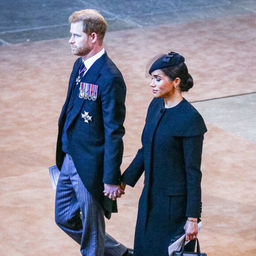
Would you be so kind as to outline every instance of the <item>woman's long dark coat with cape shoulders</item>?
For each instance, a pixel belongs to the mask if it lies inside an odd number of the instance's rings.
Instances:
[[[200,217],[203,118],[185,99],[164,107],[151,102],[142,148],[121,179],[134,187],[145,170],[139,199],[134,255],[168,256],[170,241],[184,232],[187,217]]]

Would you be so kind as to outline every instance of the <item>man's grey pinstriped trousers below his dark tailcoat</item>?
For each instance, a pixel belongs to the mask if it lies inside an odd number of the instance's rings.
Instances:
[[[105,233],[102,207],[83,185],[68,154],[65,156],[56,189],[55,221],[81,245],[83,256],[121,256],[127,250]]]

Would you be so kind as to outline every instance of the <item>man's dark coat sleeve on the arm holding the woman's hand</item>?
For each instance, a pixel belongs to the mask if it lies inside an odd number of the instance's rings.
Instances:
[[[120,165],[123,158],[126,87],[124,79],[115,75],[102,91],[102,114],[105,129],[104,175],[106,184],[120,184]]]

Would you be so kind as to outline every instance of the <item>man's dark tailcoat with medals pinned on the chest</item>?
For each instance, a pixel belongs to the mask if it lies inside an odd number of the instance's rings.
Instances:
[[[68,103],[79,75],[82,58],[75,61],[69,80],[68,95],[59,118],[56,148],[56,165],[59,170],[64,161],[62,132]],[[90,194],[105,209],[105,216],[117,212],[117,202],[104,196],[104,183],[120,184],[120,165],[123,157],[126,86],[123,76],[112,60],[104,53],[81,77],[81,81],[98,85],[95,101],[79,98],[79,87],[68,124],[68,154]],[[91,121],[85,122],[82,113],[89,112]]]

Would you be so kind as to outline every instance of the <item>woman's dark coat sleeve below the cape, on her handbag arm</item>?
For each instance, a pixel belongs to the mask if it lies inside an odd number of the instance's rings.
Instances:
[[[184,161],[187,174],[187,211],[186,216],[199,218],[201,216],[201,156],[203,135],[183,138]]]

